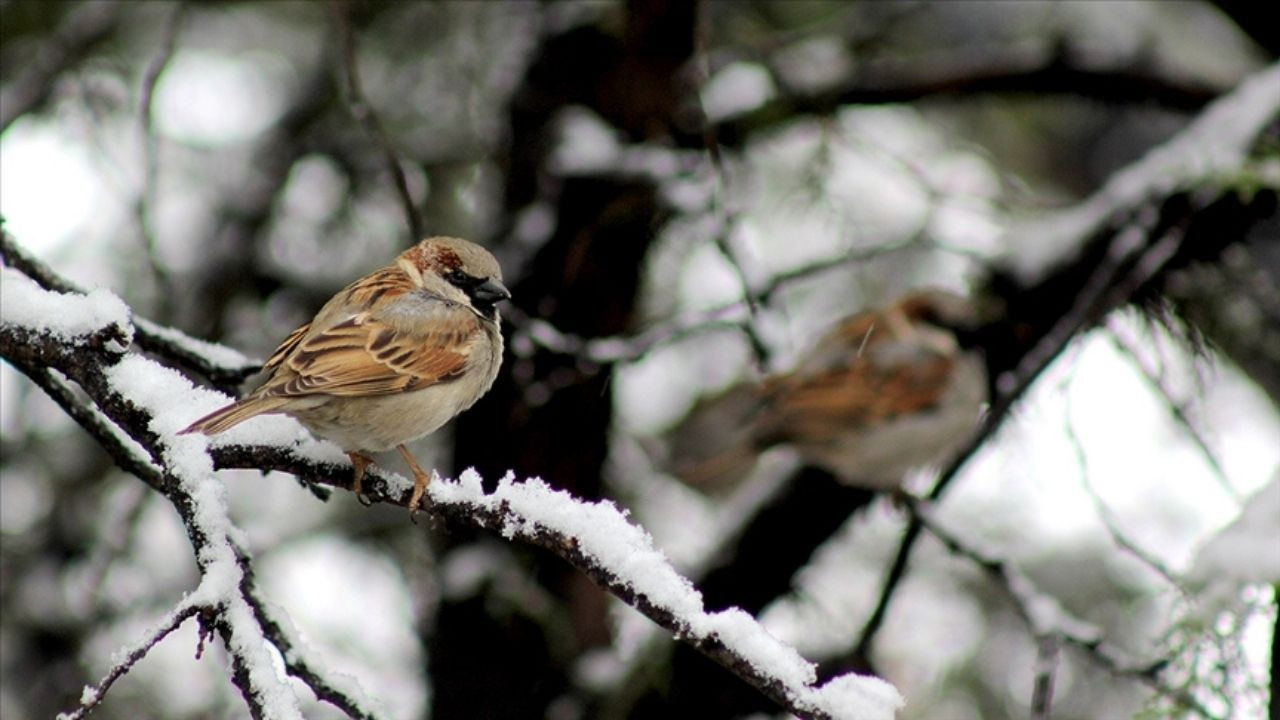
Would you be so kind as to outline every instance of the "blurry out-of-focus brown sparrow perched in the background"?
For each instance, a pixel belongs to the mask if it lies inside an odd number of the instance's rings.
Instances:
[[[965,299],[937,290],[854,315],[794,370],[695,406],[675,433],[672,469],[714,488],[787,445],[849,484],[897,488],[909,469],[950,457],[978,423],[987,377],[964,332],[975,324]]]

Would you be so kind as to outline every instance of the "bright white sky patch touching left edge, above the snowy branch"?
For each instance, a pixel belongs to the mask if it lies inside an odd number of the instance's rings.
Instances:
[[[22,118],[0,136],[0,215],[36,255],[72,238],[108,205],[84,145],[56,122]]]

